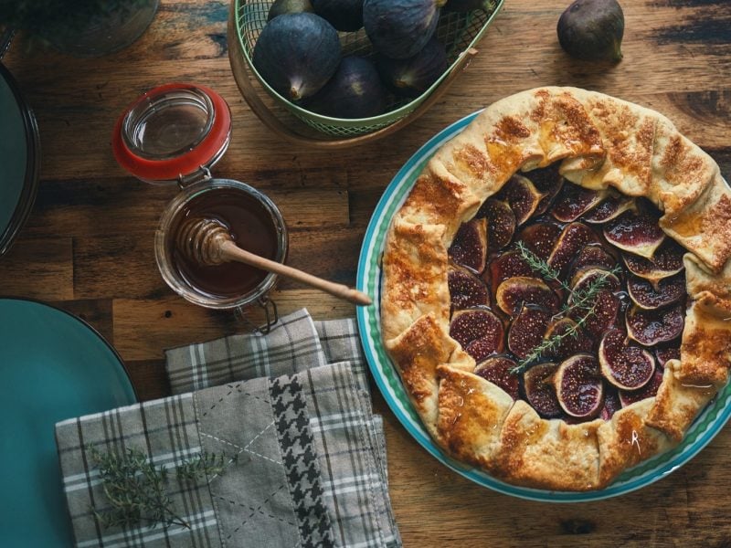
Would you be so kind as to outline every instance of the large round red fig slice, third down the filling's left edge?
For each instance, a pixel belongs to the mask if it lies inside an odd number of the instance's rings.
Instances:
[[[476,362],[503,352],[504,335],[503,321],[487,308],[455,311],[451,317],[450,337]]]

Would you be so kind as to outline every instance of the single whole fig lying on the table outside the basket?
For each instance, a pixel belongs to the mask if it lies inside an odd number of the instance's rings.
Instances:
[[[561,14],[558,42],[568,55],[590,61],[619,61],[624,13],[617,0],[576,0]]]

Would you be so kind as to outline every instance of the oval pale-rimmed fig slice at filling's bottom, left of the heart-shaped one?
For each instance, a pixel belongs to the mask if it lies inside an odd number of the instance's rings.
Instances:
[[[554,374],[558,404],[569,416],[597,416],[604,403],[604,383],[597,359],[578,353],[564,360]]]

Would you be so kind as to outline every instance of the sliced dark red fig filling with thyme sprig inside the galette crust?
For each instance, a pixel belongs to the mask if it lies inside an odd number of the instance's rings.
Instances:
[[[450,335],[546,418],[609,420],[680,356],[683,248],[643,198],[516,174],[450,247]]]

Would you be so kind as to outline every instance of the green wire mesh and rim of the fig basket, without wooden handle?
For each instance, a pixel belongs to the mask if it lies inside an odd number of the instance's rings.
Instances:
[[[259,80],[260,85],[266,90],[277,104],[290,111],[296,118],[303,121],[307,126],[316,132],[323,133],[330,137],[349,138],[358,135],[365,135],[383,129],[402,118],[408,116],[412,111],[426,100],[436,90],[443,79],[454,68],[458,58],[463,52],[473,47],[482,37],[482,34],[493,20],[503,5],[503,0],[495,0],[493,9],[490,11],[475,10],[470,13],[444,12],[440,15],[436,36],[446,47],[450,67],[445,70],[440,79],[434,82],[429,90],[424,91],[415,99],[403,99],[395,95],[389,95],[387,111],[383,114],[370,118],[342,119],[323,116],[312,111],[307,111],[301,106],[283,98],[275,90],[272,90],[267,82],[261,78],[259,72],[254,68],[251,61],[254,46],[259,38],[261,30],[267,24],[270,6],[273,0],[234,0],[236,13],[237,38],[242,47],[249,70]],[[375,55],[373,45],[365,35],[365,30],[356,32],[338,33],[340,37],[343,55],[357,55],[364,58],[372,58]]]

